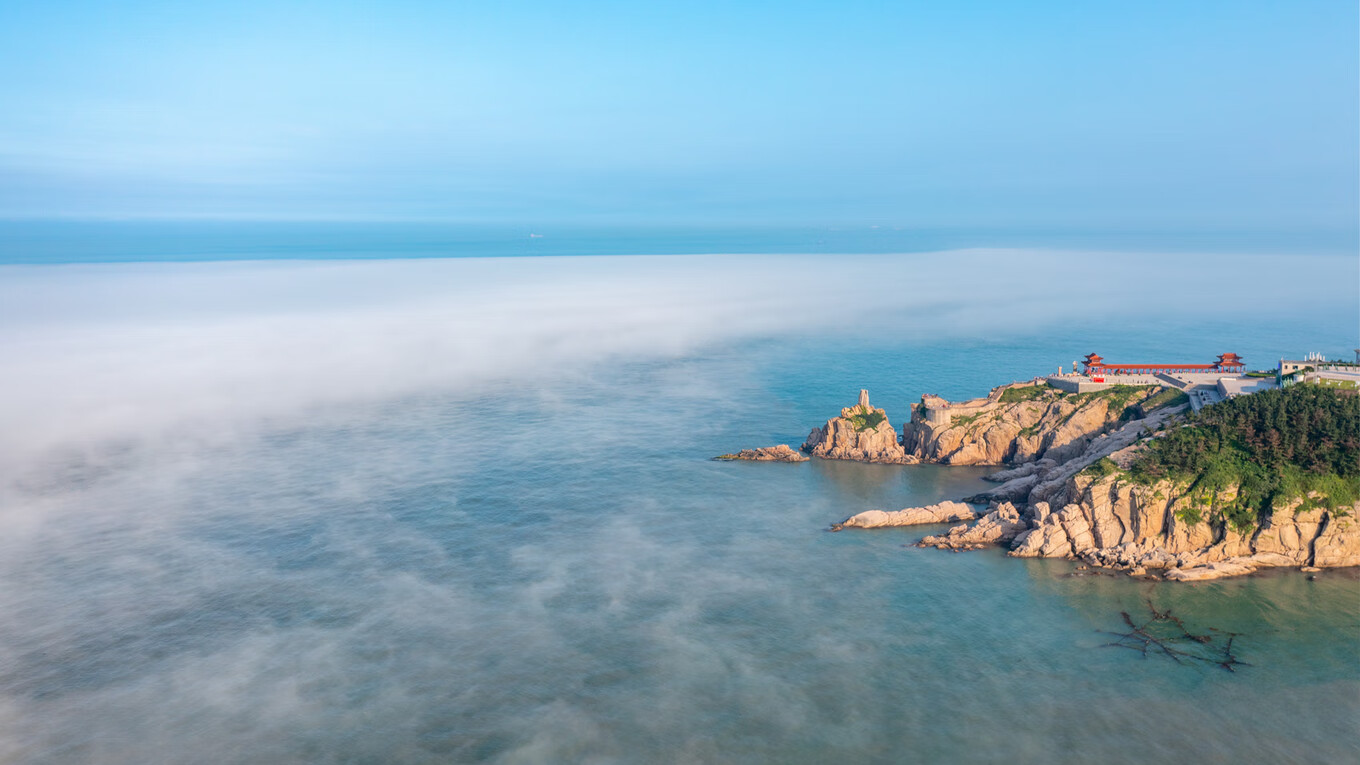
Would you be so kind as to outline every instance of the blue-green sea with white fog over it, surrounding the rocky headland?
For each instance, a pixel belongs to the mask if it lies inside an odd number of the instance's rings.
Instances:
[[[539,260],[7,267],[0,758],[1360,754],[1353,570],[923,550],[827,527],[987,468],[710,459],[860,388],[1337,355],[1353,257]],[[1149,603],[1246,666],[1110,647]]]

